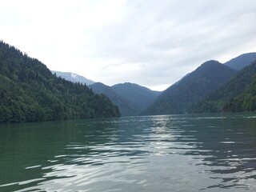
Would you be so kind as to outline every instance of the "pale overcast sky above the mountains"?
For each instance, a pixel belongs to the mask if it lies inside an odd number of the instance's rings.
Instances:
[[[50,70],[165,90],[256,52],[254,0],[0,0],[0,39]]]

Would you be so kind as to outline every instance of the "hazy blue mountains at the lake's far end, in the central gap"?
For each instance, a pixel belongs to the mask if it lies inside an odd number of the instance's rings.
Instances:
[[[105,94],[118,106],[122,116],[138,115],[154,101],[159,91],[150,90],[144,86],[126,82],[114,86],[94,83],[89,86],[95,93]]]

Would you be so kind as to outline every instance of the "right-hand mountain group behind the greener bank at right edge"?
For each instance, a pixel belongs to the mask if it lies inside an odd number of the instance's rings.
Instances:
[[[225,103],[242,94],[252,82],[256,71],[250,64],[255,60],[256,53],[249,53],[233,58],[224,65],[216,61],[205,62],[164,90],[142,114],[223,111]]]

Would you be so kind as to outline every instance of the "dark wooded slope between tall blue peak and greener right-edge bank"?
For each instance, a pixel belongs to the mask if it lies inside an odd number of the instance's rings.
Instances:
[[[191,108],[190,112],[205,113],[205,112],[221,112],[225,110],[224,106],[231,98],[242,94],[246,87],[249,86],[256,74],[256,60],[249,66],[238,71],[234,77],[224,83],[218,90],[206,95],[206,98],[198,102],[197,105]],[[228,110],[228,109],[226,109]]]

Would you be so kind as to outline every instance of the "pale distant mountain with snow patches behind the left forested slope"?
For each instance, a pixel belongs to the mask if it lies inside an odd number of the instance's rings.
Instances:
[[[87,86],[94,84],[94,82],[90,79],[87,79],[79,74],[74,74],[71,72],[60,72],[60,71],[55,71],[51,70],[52,74],[56,74],[57,77],[62,77],[65,78],[66,80],[70,82],[80,82],[82,84],[86,84]]]

